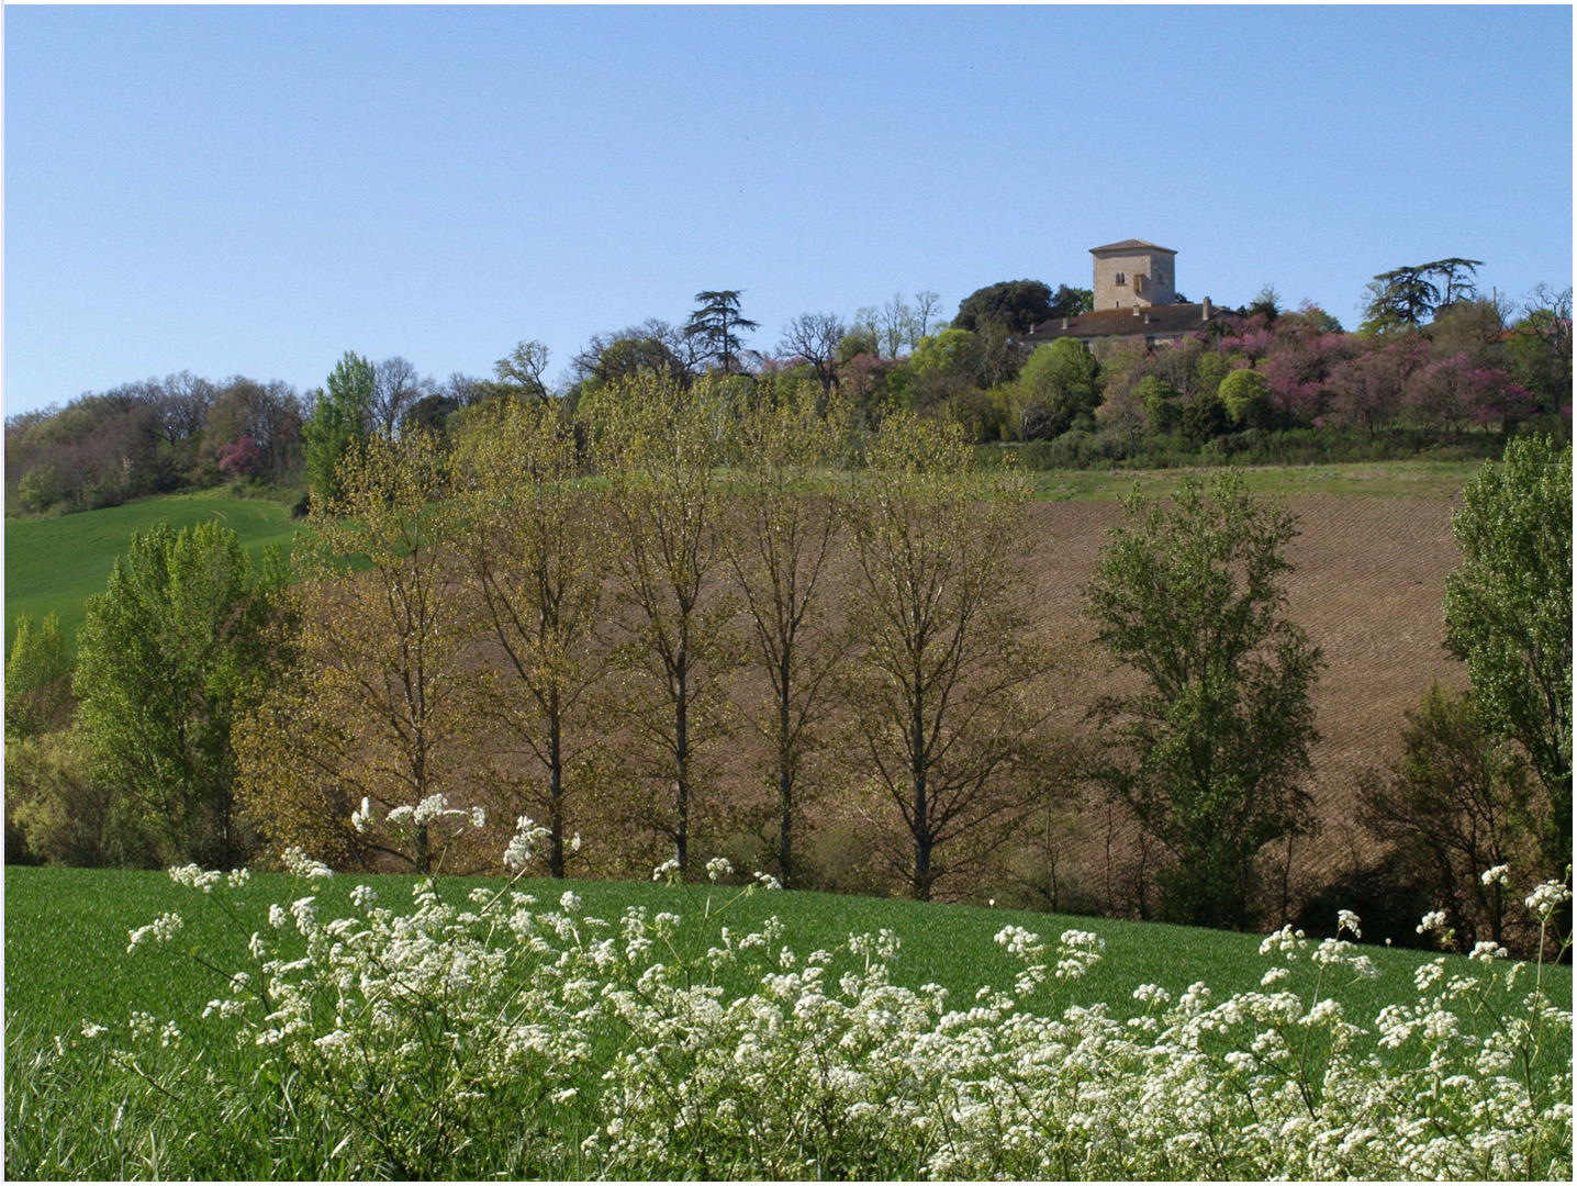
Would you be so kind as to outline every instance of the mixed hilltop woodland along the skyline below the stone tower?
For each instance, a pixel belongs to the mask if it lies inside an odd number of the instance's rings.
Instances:
[[[1539,285],[1517,306],[1484,296],[1478,267],[1446,259],[1380,273],[1356,333],[1315,306],[1284,309],[1266,285],[1236,315],[1173,342],[1031,349],[1036,325],[1088,312],[1091,292],[1005,281],[970,293],[951,322],[935,292],[894,293],[852,317],[800,314],[774,347],[754,350],[746,334],[760,326],[743,293],[710,290],[683,323],[593,334],[557,380],[536,341],[517,342],[490,377],[442,382],[399,355],[347,353],[306,396],[181,372],[8,418],[6,505],[93,509],[222,484],[322,492],[350,437],[459,432],[501,396],[574,408],[642,371],[681,383],[708,372],[814,382],[869,427],[893,412],[953,421],[976,445],[1016,446],[1030,467],[1493,453],[1517,429],[1568,438],[1571,290]]]

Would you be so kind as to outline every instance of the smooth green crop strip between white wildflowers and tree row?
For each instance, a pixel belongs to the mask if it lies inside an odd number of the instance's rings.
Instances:
[[[246,886],[243,901],[260,919],[271,902],[289,902],[311,891],[328,918],[349,913],[350,891],[363,883],[378,891],[382,904],[401,908],[410,901],[415,880],[341,875],[304,890],[284,874],[257,875]],[[440,890],[445,901],[460,904],[473,886],[497,883],[487,878],[443,878]],[[716,886],[530,878],[522,888],[544,904],[557,901],[565,890],[574,890],[585,901],[588,915],[610,919],[628,905],[672,910],[694,924],[695,929],[688,934],[697,942],[706,938],[699,919],[708,897],[716,908],[735,894]],[[68,1033],[84,1020],[123,1022],[134,1008],[156,1016],[199,1013],[222,989],[216,975],[202,975],[196,965],[167,949],[126,954],[126,932],[164,912],[183,916],[183,948],[202,951],[227,970],[241,968],[246,962],[246,934],[237,934],[211,902],[177,886],[162,872],[8,867],[5,899],[8,1027],[13,1016],[19,1016],[44,1033]],[[836,953],[845,948],[852,934],[891,929],[902,940],[897,983],[912,989],[941,984],[956,1003],[973,1000],[975,990],[984,984],[1011,983],[1017,965],[994,942],[994,935],[1008,924],[1052,940],[1068,927],[1101,935],[1105,960],[1091,976],[1069,986],[1066,1003],[1105,1001],[1118,1014],[1131,1011],[1132,990],[1140,984],[1159,984],[1176,995],[1195,981],[1205,981],[1217,995],[1230,995],[1257,987],[1269,967],[1268,957],[1258,954],[1258,935],[839,894],[759,893],[736,901],[721,923],[744,932],[757,929],[773,915],[785,924],[784,942],[801,956],[817,948]],[[254,926],[260,923],[254,921]],[[1372,1016],[1383,1005],[1411,1000],[1413,970],[1432,956],[1383,946],[1367,951],[1380,965],[1381,976],[1353,986],[1345,997],[1353,1008]],[[1467,960],[1460,964],[1468,967]],[[1569,1001],[1571,968],[1555,968],[1552,975],[1556,997]]]

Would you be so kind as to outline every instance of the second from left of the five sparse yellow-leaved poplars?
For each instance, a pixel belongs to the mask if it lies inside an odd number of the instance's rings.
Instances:
[[[574,429],[539,404],[505,404],[472,423],[457,464],[459,543],[495,653],[479,711],[533,771],[509,811],[542,822],[549,872],[563,877],[572,800],[598,773],[601,743],[590,711],[610,566],[601,489],[576,481]]]

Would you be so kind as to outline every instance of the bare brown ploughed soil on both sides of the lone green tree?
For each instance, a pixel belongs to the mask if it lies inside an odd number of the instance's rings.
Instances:
[[[1355,856],[1375,855],[1356,823],[1359,771],[1400,754],[1405,713],[1432,680],[1465,688],[1463,666],[1445,650],[1441,602],[1446,576],[1460,563],[1451,538],[1451,513],[1460,500],[1293,495],[1288,508],[1301,535],[1288,547],[1287,615],[1323,650],[1315,688],[1322,740],[1312,751],[1309,790],[1318,834],[1298,842],[1292,867],[1293,897],[1351,867]],[[1031,579],[1038,607],[1053,631],[1072,632],[1093,661],[1079,696],[1091,703],[1118,677],[1104,673],[1083,618],[1080,588],[1090,580],[1105,533],[1121,522],[1117,503],[1035,503],[1030,517],[1039,539]],[[1094,845],[1069,856],[1088,867]]]

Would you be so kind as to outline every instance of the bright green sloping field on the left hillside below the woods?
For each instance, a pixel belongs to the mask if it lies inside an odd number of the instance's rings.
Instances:
[[[74,653],[82,604],[104,591],[115,557],[126,552],[132,533],[161,520],[178,530],[210,519],[240,535],[254,558],[268,544],[289,550],[295,535],[290,513],[279,503],[214,494],[172,494],[54,519],[6,519],[6,650],[16,637],[19,614],[39,621],[54,610],[66,650]]]

